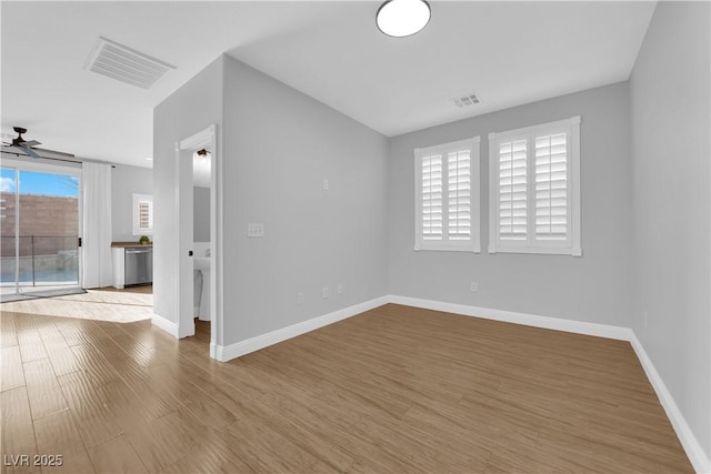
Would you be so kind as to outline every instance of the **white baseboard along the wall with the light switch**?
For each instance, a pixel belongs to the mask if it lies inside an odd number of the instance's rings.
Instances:
[[[387,303],[388,296],[380,296],[364,303],[354,304],[352,306],[344,307],[332,313],[323,314],[311,320],[282,327],[277,331],[260,334],[258,336],[250,337],[234,344],[226,346],[217,345],[214,347],[214,359],[221,362],[227,362],[232,359],[240,357],[244,354],[249,354],[250,352],[259,351],[260,349],[268,347],[272,344],[277,344],[288,339],[296,337],[319,327],[323,327],[337,321],[346,320],[348,317],[372,310],[373,307],[382,306]]]

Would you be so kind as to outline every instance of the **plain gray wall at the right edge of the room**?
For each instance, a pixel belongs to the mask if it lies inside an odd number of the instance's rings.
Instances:
[[[659,2],[630,79],[632,326],[707,457],[709,13],[708,2]]]

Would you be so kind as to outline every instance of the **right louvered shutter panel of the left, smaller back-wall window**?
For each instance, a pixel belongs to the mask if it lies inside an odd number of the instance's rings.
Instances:
[[[448,153],[448,228],[451,240],[471,239],[471,154],[469,150]]]

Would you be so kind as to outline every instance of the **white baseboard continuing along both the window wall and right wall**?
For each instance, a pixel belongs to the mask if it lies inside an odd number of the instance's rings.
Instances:
[[[445,303],[441,301],[421,300],[417,297],[389,295],[390,303],[403,304],[407,306],[422,307],[425,310],[442,311],[447,313],[462,314],[465,316],[483,317],[488,320],[503,321],[508,323],[524,324],[534,327],[564,331],[577,334],[594,335],[599,337],[628,341],[637,353],[647,377],[649,379],[667,416],[671,422],[677,436],[681,442],[689,461],[698,473],[711,473],[711,463],[707,457],[699,440],[694,436],[685,418],[681,414],[674,399],[667,390],[667,385],[657,372],[652,360],[647,355],[642,343],[637,339],[634,331],[630,327],[612,326],[607,324],[587,323],[582,321],[562,320],[559,317],[538,316],[534,314],[517,313],[512,311],[492,310],[488,307],[469,306],[464,304]]]

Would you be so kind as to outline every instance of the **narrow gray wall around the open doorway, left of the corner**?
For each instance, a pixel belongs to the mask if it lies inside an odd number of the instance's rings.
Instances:
[[[222,58],[153,110],[153,312],[178,324],[176,142],[222,123]],[[218,144],[219,147],[219,144]]]

